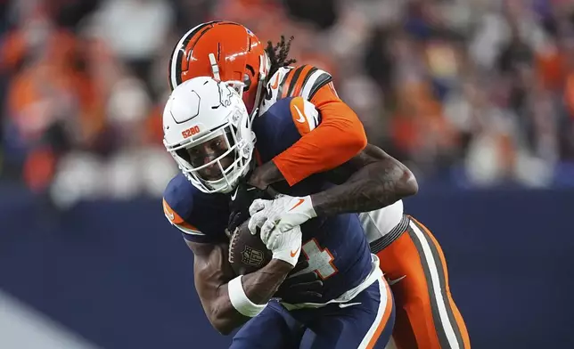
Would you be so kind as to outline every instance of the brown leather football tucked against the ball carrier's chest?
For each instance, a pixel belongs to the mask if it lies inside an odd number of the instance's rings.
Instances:
[[[257,272],[271,261],[273,254],[261,241],[259,233],[251,235],[247,226],[249,220],[243,222],[229,241],[229,264],[236,275],[246,275]]]

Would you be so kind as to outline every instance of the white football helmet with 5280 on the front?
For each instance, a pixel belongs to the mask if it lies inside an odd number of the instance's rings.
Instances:
[[[232,86],[193,77],[176,86],[163,110],[163,143],[200,191],[230,192],[250,169],[251,118]]]

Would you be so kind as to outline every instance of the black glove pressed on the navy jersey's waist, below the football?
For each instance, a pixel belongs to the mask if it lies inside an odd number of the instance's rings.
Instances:
[[[323,303],[323,281],[315,272],[305,272],[290,278],[290,275],[308,266],[307,258],[300,260],[275,292],[274,297],[281,298],[283,302],[290,304]]]

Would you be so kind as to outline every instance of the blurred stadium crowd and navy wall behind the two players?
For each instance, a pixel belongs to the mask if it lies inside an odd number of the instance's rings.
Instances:
[[[235,20],[332,72],[421,192],[475,348],[574,339],[574,1],[0,0],[0,347],[218,348],[160,197],[169,53]],[[569,228],[570,226],[570,228]]]

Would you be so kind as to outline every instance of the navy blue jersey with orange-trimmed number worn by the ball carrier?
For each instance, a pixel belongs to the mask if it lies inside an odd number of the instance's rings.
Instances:
[[[267,162],[291,147],[301,137],[298,122],[312,129],[320,118],[300,97],[277,101],[265,114],[255,119],[257,150],[262,162]],[[310,104],[310,103],[309,103]],[[291,108],[299,105],[299,108]],[[312,105],[311,105],[312,107]],[[292,114],[292,110],[296,113]],[[289,187],[279,185],[277,191],[291,196],[305,196],[324,191],[332,184],[322,175],[312,175]],[[229,195],[205,194],[177,175],[164,194],[164,211],[168,220],[183,231],[184,239],[199,243],[228,241],[225,234]],[[365,232],[357,214],[317,217],[301,225],[302,251],[312,269],[324,280],[324,301],[340,296],[357,287],[371,272],[371,254]]]

